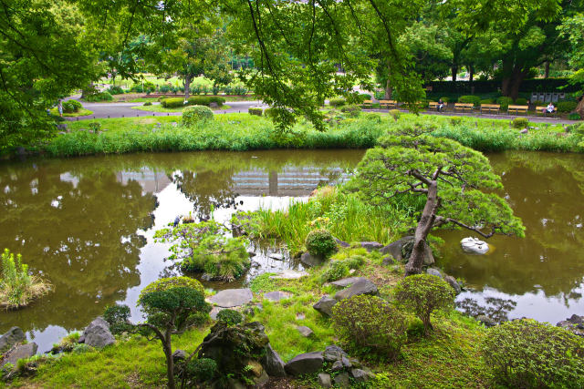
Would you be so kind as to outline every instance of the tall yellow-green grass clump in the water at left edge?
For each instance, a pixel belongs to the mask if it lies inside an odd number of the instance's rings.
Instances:
[[[28,305],[50,290],[50,284],[40,277],[28,274],[28,265],[22,256],[5,249],[2,253],[2,279],[0,279],[0,306],[16,309]]]

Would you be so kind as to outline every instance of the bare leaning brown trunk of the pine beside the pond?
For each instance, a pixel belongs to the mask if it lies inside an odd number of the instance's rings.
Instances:
[[[422,272],[423,257],[426,251],[426,238],[432,230],[436,219],[436,205],[438,204],[438,182],[433,180],[428,186],[428,196],[426,205],[423,207],[422,217],[418,221],[416,231],[413,235],[413,249],[410,260],[405,265],[406,277]]]

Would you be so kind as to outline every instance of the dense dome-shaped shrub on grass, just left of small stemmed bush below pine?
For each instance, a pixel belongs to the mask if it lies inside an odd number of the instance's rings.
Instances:
[[[332,308],[339,338],[360,353],[382,353],[391,360],[400,356],[406,341],[405,317],[376,296],[361,294],[341,300]]]

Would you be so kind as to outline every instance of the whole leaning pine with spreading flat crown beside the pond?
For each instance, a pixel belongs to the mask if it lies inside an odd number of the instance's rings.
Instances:
[[[396,128],[380,139],[380,146],[367,151],[349,184],[372,203],[404,193],[426,198],[406,275],[422,271],[425,241],[434,228],[462,227],[485,238],[495,233],[524,235],[521,220],[506,201],[482,191],[502,188],[488,159],[454,140],[433,137],[431,130]]]

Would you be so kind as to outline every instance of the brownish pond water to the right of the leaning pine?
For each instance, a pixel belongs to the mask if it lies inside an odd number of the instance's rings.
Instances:
[[[526,238],[493,237],[495,251],[464,254],[458,242],[468,231],[443,231],[441,265],[474,288],[460,299],[512,299],[510,317],[558,322],[584,311],[584,156],[513,152],[489,156],[504,192],[526,226]]]

